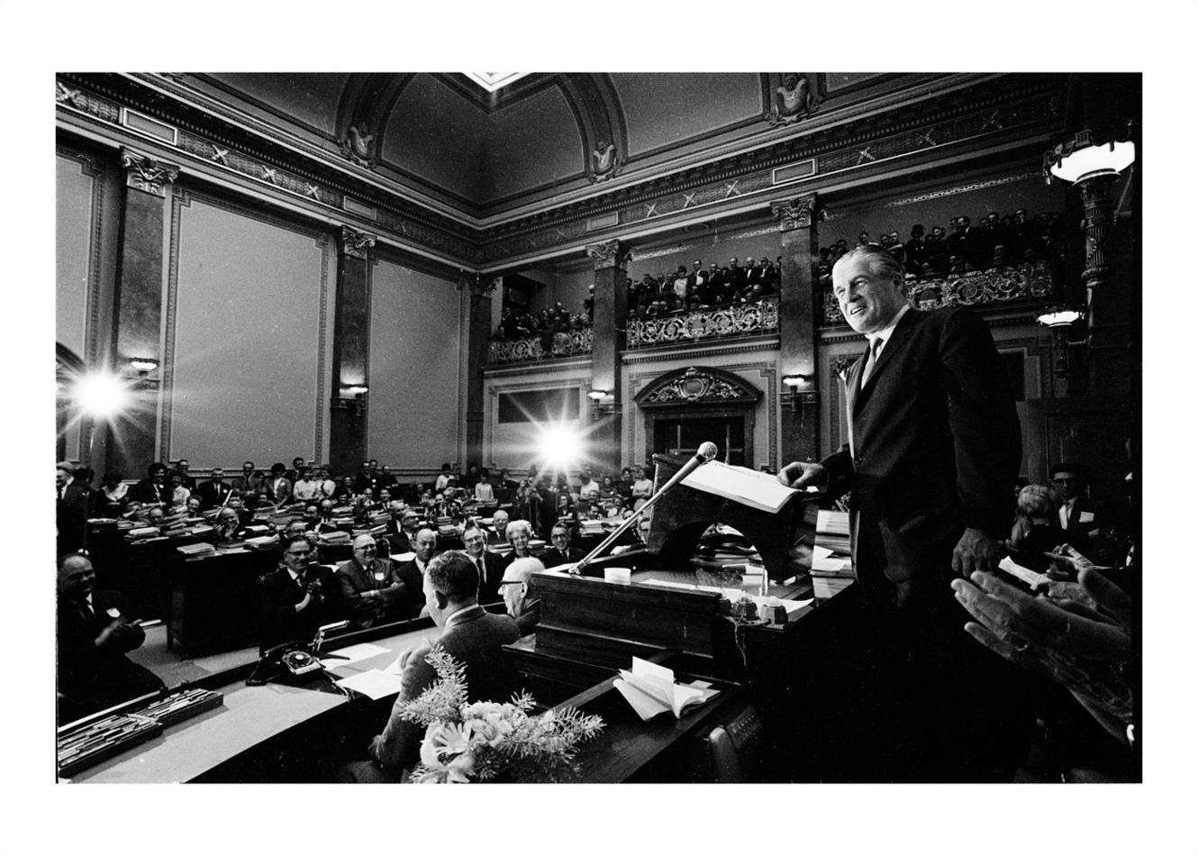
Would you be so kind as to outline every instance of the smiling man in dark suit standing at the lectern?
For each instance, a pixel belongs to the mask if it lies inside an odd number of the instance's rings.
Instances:
[[[976,315],[910,308],[890,253],[854,248],[833,269],[833,285],[845,319],[870,342],[846,381],[849,442],[818,464],[789,464],[779,481],[852,492],[867,628],[859,683],[871,709],[861,746],[875,741],[857,776],[1002,774],[1025,750],[1016,674],[979,656],[988,652],[963,633],[968,615],[949,583],[994,571],[1010,531],[1021,439],[1006,374]]]

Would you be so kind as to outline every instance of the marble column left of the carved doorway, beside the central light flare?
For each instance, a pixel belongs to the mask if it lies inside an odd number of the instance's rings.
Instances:
[[[628,291],[624,279],[631,248],[623,241],[607,241],[587,247],[594,261],[595,294],[591,350],[591,388],[607,394],[599,402],[587,399],[586,406],[599,408],[600,415],[589,433],[589,456],[600,472],[618,472],[623,428],[623,390],[621,351],[628,342]]]

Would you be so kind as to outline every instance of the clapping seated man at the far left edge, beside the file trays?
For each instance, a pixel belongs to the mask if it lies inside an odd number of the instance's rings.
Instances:
[[[91,560],[62,557],[58,577],[59,723],[164,688],[149,669],[125,656],[146,634],[128,614],[125,596],[96,589]]]

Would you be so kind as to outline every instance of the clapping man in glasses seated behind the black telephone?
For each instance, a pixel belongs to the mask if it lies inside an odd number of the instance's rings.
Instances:
[[[341,617],[337,580],[328,568],[309,565],[314,553],[303,534],[284,536],[283,567],[261,579],[261,652],[285,641],[311,641],[321,625]]]

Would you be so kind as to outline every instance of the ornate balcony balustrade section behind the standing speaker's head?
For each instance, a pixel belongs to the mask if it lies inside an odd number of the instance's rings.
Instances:
[[[1052,267],[1047,261],[943,273],[908,281],[910,305],[916,309],[942,306],[978,306],[1019,300],[1043,300],[1053,294]],[[845,324],[831,287],[824,287],[823,326]]]

